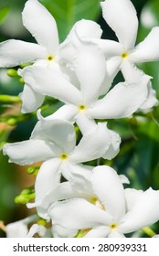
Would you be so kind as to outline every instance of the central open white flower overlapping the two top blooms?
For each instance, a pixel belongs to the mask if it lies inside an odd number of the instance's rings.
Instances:
[[[77,81],[69,82],[55,70],[27,67],[22,72],[26,84],[38,93],[52,96],[65,103],[48,120],[66,119],[78,123],[80,130],[88,129],[94,119],[129,117],[147,99],[149,77],[135,83],[120,82],[110,90],[105,78],[106,62],[101,49],[85,42],[79,48],[74,63]],[[101,91],[104,97],[99,99]]]

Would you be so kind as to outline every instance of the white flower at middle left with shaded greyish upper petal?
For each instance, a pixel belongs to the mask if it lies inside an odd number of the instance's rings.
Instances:
[[[112,134],[112,135],[111,135]],[[73,124],[63,121],[42,119],[37,123],[29,140],[5,144],[4,154],[9,161],[18,165],[31,165],[43,161],[36,179],[36,201],[40,201],[60,182],[61,174],[68,180],[71,174],[80,172],[78,165],[83,162],[111,158],[119,152],[120,137],[109,130],[105,123],[99,123],[86,133],[76,146],[76,133]],[[112,140],[111,140],[112,137]],[[114,144],[114,146],[113,146]],[[82,168],[82,165],[80,165]],[[91,167],[84,165],[85,173]]]

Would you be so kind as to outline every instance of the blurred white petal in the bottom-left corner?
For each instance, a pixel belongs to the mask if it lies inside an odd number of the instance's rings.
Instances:
[[[6,225],[7,238],[26,238],[28,229],[23,220]]]

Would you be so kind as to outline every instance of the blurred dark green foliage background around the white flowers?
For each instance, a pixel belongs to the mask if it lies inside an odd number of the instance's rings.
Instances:
[[[117,0],[118,1],[118,0]],[[62,41],[69,33],[70,28],[81,18],[97,21],[103,29],[102,37],[115,39],[110,27],[106,26],[101,16],[99,0],[41,0],[46,5],[58,24],[59,38]],[[0,41],[17,38],[33,41],[34,38],[22,25],[21,12],[25,5],[24,0],[0,0]],[[142,41],[152,27],[159,26],[158,0],[132,0],[140,18],[138,42]],[[154,77],[153,86],[159,99],[159,62],[142,65],[143,70]],[[121,79],[118,76],[116,81]],[[10,78],[5,69],[0,69],[0,94],[17,95],[23,90],[19,78]],[[46,100],[46,106],[51,105],[46,112],[58,108],[58,102]],[[47,107],[46,107],[47,108]],[[4,118],[5,117],[5,118]],[[19,122],[13,124],[18,117]],[[2,146],[7,142],[22,141],[29,135],[37,121],[35,114],[20,114],[18,103],[0,101],[0,220],[5,224],[23,219],[30,211],[26,207],[16,205],[14,198],[24,187],[33,185],[34,177],[26,174],[26,168],[8,164],[8,159],[2,154]],[[135,114],[131,119],[110,121],[109,127],[122,136],[120,154],[112,161],[103,161],[101,164],[113,166],[119,174],[125,174],[131,180],[131,187],[159,189],[159,108],[152,112]],[[90,163],[95,164],[95,163]],[[158,208],[159,206],[156,206]],[[159,224],[153,227],[159,233]],[[0,230],[0,237],[5,233]],[[139,236],[146,235],[140,233]]]

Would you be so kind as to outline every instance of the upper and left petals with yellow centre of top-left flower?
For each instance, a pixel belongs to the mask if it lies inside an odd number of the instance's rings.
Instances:
[[[38,59],[51,61],[57,54],[58,28],[48,10],[37,0],[28,0],[22,19],[26,29],[36,38],[37,44],[14,39],[1,43],[1,67],[15,67]]]

